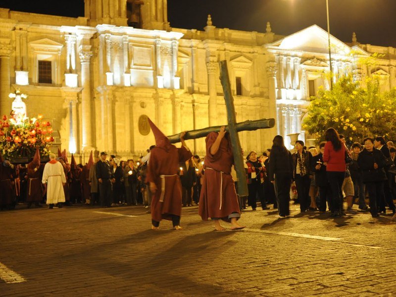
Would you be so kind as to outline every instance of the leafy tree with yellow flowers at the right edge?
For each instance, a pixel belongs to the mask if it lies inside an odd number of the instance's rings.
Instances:
[[[396,89],[380,92],[379,80],[368,78],[366,88],[352,77],[341,78],[332,91],[321,88],[311,97],[303,129],[317,140],[324,140],[328,128],[343,134],[349,144],[367,136],[396,139]]]

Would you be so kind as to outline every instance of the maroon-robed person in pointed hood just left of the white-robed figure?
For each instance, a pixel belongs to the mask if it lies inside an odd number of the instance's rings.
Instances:
[[[36,207],[41,207],[40,201],[43,199],[43,188],[42,188],[42,175],[40,170],[40,151],[36,149],[36,154],[33,160],[27,166],[28,183],[27,183],[27,195],[26,202],[28,202],[28,208],[32,206],[32,203]]]

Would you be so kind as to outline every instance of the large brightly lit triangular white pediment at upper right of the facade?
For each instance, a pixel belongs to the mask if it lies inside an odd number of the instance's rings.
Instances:
[[[351,50],[345,43],[330,35],[332,53],[341,55],[348,54]],[[297,33],[286,36],[270,45],[271,48],[299,50],[305,52],[329,52],[329,41],[327,31],[317,25],[312,25]]]

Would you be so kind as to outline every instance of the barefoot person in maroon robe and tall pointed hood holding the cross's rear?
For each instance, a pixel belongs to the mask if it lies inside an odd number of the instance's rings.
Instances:
[[[155,137],[155,148],[151,150],[146,182],[152,195],[151,229],[159,228],[159,222],[171,220],[173,228],[180,230],[182,213],[182,186],[178,176],[179,163],[186,162],[193,154],[187,148],[183,132],[180,136],[181,148],[176,148],[169,139],[148,119]]]

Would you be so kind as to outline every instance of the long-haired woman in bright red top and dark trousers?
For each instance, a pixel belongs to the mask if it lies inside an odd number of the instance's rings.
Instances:
[[[341,188],[347,168],[345,163],[346,148],[334,128],[327,129],[325,139],[326,145],[323,152],[323,162],[326,165],[327,177],[332,192],[331,216],[339,216],[344,213]]]

